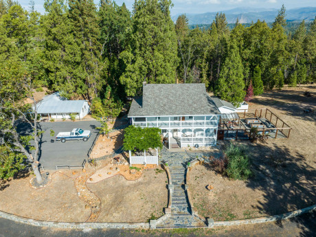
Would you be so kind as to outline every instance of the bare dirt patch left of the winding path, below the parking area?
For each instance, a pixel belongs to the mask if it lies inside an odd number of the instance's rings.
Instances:
[[[78,174],[54,172],[45,188],[30,187],[32,175],[12,179],[0,192],[0,210],[18,216],[45,221],[86,221],[91,210],[78,199],[74,179]]]

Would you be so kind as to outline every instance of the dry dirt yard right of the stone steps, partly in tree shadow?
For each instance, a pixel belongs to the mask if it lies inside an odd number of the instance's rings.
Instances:
[[[304,91],[312,97],[305,97]],[[249,103],[249,109],[268,108],[291,126],[289,139],[268,139],[249,147],[254,177],[232,181],[207,166],[196,166],[190,187],[202,216],[216,221],[282,214],[316,203],[316,88],[268,91]],[[314,113],[304,113],[311,108]],[[219,142],[225,146],[228,142]],[[211,184],[213,191],[206,190]]]

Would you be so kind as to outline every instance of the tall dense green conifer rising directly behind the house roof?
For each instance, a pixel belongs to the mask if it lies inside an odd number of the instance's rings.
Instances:
[[[170,1],[135,1],[131,50],[120,54],[126,67],[120,81],[127,95],[142,93],[142,82],[173,83],[176,78],[177,36]]]

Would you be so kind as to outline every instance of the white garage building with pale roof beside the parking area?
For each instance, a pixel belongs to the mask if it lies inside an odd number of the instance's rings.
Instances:
[[[67,100],[59,92],[47,95],[36,104],[37,113],[48,119],[69,119],[71,113],[76,114],[76,119],[81,120],[89,113],[87,100]]]

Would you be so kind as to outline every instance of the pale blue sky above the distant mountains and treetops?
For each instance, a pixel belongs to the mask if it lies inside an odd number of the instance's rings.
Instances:
[[[94,0],[98,3],[99,0]],[[29,0],[19,0],[24,8],[28,8]],[[44,0],[34,0],[35,8],[38,12],[44,13]],[[118,5],[125,2],[126,6],[131,10],[134,0],[117,0]],[[179,13],[204,13],[218,12],[229,10],[232,8],[281,8],[284,3],[286,9],[316,7],[315,0],[173,0],[174,7],[171,14]]]

